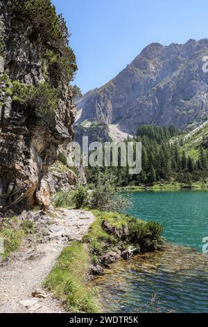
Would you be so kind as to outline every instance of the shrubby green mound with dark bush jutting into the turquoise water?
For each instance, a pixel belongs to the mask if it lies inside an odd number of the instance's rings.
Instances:
[[[153,222],[147,223],[146,221],[141,221],[125,214],[99,212],[98,210],[93,210],[92,213],[96,216],[96,221],[92,223],[83,241],[89,243],[90,252],[94,261],[98,260],[99,256],[111,250],[125,250],[125,248],[134,245],[141,252],[146,252],[148,250],[154,250],[162,244],[161,234],[163,229],[157,223],[152,228],[151,224]],[[116,234],[106,232],[103,229],[104,221],[116,228],[119,232],[122,232],[123,228],[128,226],[129,234],[121,238]],[[158,230],[158,228],[161,228],[161,230]]]

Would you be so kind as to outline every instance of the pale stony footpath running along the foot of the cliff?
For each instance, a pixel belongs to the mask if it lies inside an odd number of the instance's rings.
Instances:
[[[49,240],[31,248],[23,246],[0,266],[0,313],[64,312],[62,303],[47,293],[42,283],[62,249],[74,239],[80,240],[94,221],[91,212],[61,209],[48,225]],[[40,298],[33,297],[37,290]],[[37,295],[38,296],[38,295]]]

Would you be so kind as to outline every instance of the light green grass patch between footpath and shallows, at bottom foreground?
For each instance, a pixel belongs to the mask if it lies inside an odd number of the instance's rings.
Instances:
[[[63,301],[69,312],[99,312],[96,291],[86,281],[89,266],[88,250],[80,242],[73,241],[62,251],[44,282],[44,286]]]

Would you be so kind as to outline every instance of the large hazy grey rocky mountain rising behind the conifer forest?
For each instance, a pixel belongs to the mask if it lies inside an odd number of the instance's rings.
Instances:
[[[202,57],[207,54],[207,39],[149,45],[112,81],[78,100],[83,109],[78,122],[99,119],[129,133],[144,123],[184,128],[203,122],[208,74]]]

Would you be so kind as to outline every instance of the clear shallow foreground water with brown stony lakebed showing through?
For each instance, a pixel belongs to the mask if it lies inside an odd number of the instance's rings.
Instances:
[[[192,308],[199,312],[200,303],[193,304],[192,298],[187,299],[188,306],[186,301],[176,305],[166,299],[170,295],[169,292],[171,296],[175,296],[175,287],[179,296],[186,296],[184,291],[180,291],[184,278],[192,287],[191,280],[194,275],[200,285],[198,269],[201,273],[207,271],[207,259],[207,255],[199,253],[195,248],[166,241],[159,250],[141,253],[128,261],[121,260],[111,264],[110,269],[105,269],[103,276],[97,276],[94,282],[100,289],[102,305],[107,312],[120,313],[125,308],[141,313],[185,313],[189,311],[189,305],[193,305]],[[164,286],[162,290],[158,278]],[[170,288],[166,292],[167,283]],[[204,297],[207,301],[207,296]],[[202,312],[205,312],[204,307]]]

